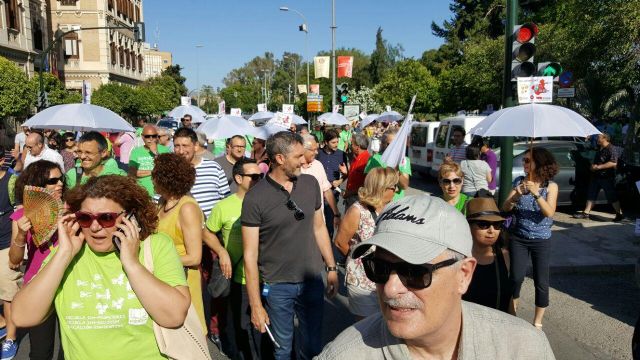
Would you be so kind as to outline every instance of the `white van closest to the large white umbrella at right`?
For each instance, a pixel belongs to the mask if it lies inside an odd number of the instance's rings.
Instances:
[[[478,125],[485,117],[485,115],[465,115],[461,112],[454,117],[446,118],[440,122],[440,126],[438,126],[438,131],[435,135],[433,162],[431,164],[431,170],[429,171],[431,176],[438,177],[440,165],[442,165],[445,156],[449,154],[453,146],[453,130],[456,128],[464,129],[466,134],[464,141],[470,144],[472,136],[469,134],[469,130]]]

